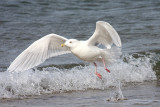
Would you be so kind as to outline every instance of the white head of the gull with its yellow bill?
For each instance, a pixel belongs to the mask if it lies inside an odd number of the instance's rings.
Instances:
[[[61,47],[67,46],[69,48],[74,48],[78,44],[78,40],[76,39],[69,39],[64,44],[61,44]]]

